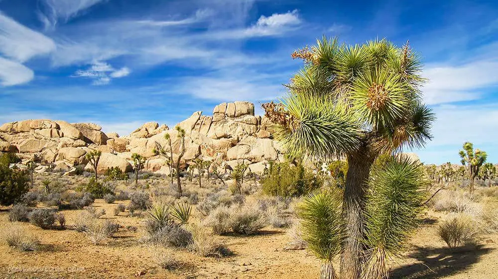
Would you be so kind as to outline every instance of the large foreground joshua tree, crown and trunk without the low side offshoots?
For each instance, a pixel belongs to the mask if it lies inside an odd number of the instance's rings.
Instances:
[[[293,53],[304,68],[280,103],[263,104],[275,139],[294,158],[346,157],[345,239],[341,277],[358,279],[366,254],[365,207],[370,170],[383,153],[421,147],[431,139],[432,111],[422,103],[421,64],[408,43],[386,40],[340,45],[324,37]]]

